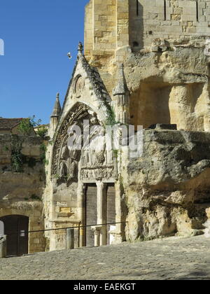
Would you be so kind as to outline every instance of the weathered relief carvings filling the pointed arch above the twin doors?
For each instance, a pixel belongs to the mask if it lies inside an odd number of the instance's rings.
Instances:
[[[86,120],[89,123],[83,124]],[[82,132],[76,132],[76,127]],[[80,104],[62,124],[54,148],[52,174],[59,181],[112,179],[112,151],[106,150],[106,134],[96,113]]]

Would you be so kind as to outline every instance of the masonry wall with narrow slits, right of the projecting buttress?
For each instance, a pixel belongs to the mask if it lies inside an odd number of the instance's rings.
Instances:
[[[130,45],[134,47],[150,46],[154,38],[209,36],[209,0],[139,0],[138,11],[136,2],[130,1]]]

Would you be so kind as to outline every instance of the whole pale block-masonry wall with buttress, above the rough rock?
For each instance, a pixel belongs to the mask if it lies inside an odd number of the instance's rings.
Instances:
[[[150,47],[156,38],[209,36],[209,0],[91,0],[85,13],[85,55],[110,59],[127,45]]]

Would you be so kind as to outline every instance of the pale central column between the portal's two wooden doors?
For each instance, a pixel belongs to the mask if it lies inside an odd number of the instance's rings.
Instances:
[[[97,224],[106,223],[106,185],[97,182]],[[106,245],[106,225],[100,230],[100,245]]]

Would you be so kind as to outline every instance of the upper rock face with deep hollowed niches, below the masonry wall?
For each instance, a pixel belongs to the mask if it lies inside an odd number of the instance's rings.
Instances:
[[[188,44],[127,55],[132,124],[171,123],[178,130],[209,132],[209,57],[203,51]]]

